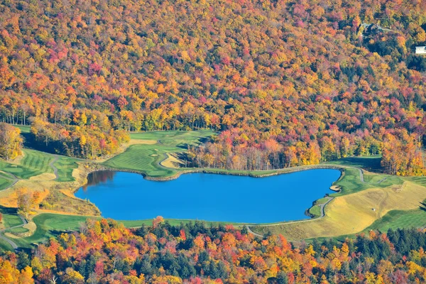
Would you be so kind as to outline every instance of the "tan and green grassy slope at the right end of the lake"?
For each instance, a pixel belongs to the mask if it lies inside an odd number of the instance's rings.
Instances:
[[[426,178],[400,178],[378,173],[364,173],[361,181],[359,170],[346,168],[335,185],[342,192],[325,207],[325,217],[310,222],[295,222],[274,226],[253,226],[258,234],[283,234],[288,239],[311,239],[321,236],[347,236],[361,231],[388,228],[421,227],[426,222],[420,201],[426,198]],[[312,207],[317,214],[317,207]]]

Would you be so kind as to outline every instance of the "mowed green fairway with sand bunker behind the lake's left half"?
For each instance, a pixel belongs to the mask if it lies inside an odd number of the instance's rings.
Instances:
[[[155,144],[138,144],[127,148],[124,153],[104,162],[110,168],[135,170],[151,177],[169,177],[178,170],[165,168],[160,162],[168,153],[182,153],[190,145],[199,145],[212,131],[153,131],[131,133],[134,140],[158,141]]]

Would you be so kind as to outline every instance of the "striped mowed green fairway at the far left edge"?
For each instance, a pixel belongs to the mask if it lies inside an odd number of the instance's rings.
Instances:
[[[49,165],[53,160],[53,155],[30,149],[24,149],[23,153],[24,156],[18,165],[0,160],[0,170],[23,180],[42,173],[53,173],[53,169]]]

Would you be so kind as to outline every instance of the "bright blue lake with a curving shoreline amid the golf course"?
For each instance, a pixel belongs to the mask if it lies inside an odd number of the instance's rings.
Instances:
[[[145,180],[136,173],[95,172],[75,196],[117,220],[200,219],[268,223],[307,218],[312,202],[332,193],[339,170],[305,170],[268,178],[193,173]]]

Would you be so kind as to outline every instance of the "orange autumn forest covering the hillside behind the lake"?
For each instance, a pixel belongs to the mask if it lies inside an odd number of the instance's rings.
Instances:
[[[1,1],[0,120],[71,127],[58,151],[91,158],[119,140],[109,129],[211,128],[194,165],[383,153],[388,173],[418,175],[425,28],[421,0]]]

